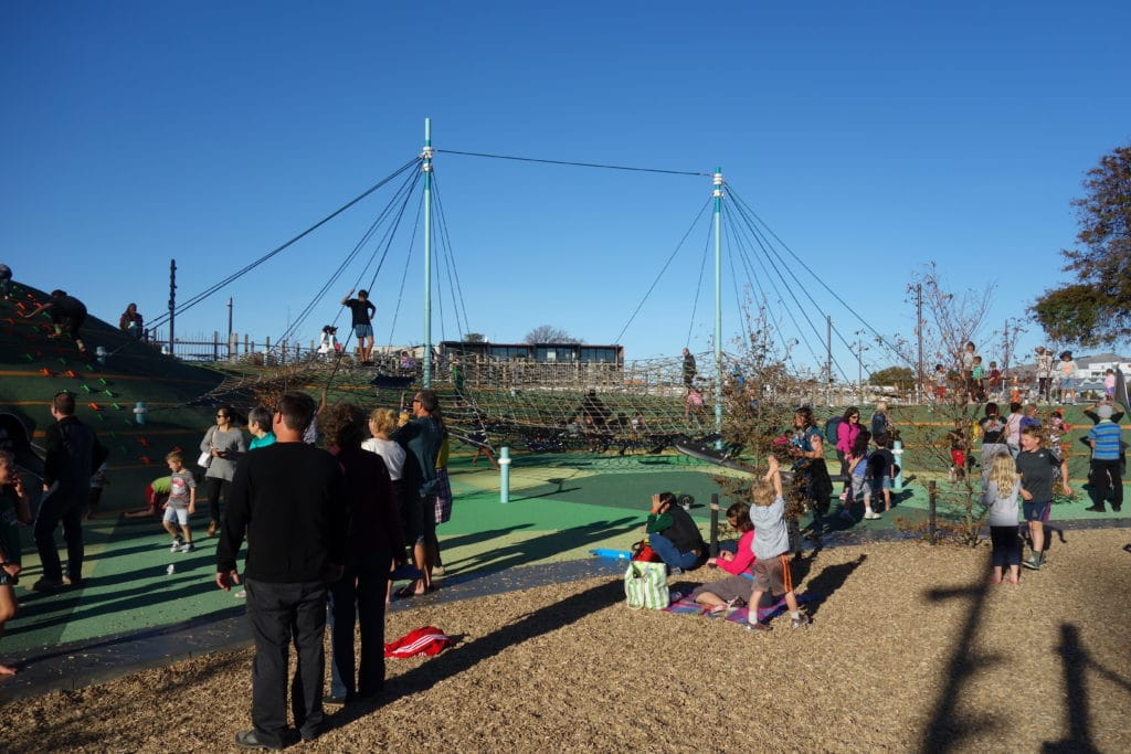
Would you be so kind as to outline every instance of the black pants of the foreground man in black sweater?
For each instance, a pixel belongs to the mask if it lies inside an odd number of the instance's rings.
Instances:
[[[282,746],[286,733],[286,670],[291,642],[299,664],[291,683],[291,711],[304,738],[322,725],[326,653],[326,582],[269,583],[247,579],[248,622],[256,642],[251,664],[251,722],[268,746]]]

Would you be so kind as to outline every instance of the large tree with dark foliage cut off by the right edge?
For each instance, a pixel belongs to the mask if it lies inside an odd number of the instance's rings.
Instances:
[[[1100,157],[1083,189],[1072,201],[1077,245],[1061,250],[1076,281],[1046,291],[1029,311],[1053,340],[1113,344],[1131,336],[1131,146]]]

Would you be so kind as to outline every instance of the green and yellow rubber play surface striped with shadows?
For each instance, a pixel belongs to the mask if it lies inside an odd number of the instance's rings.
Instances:
[[[691,514],[708,536],[707,503],[718,492],[717,467],[679,456],[571,453],[517,456],[515,461],[510,499],[502,503],[499,474],[472,468],[463,453],[452,457],[456,503],[451,520],[440,527],[449,579],[589,558],[597,547],[628,549],[642,536],[650,495],[664,489],[694,496]],[[890,531],[897,517],[925,518],[927,495],[918,480],[897,500],[896,510],[881,520],[847,523],[830,517],[828,528],[834,535]],[[723,509],[729,502],[719,501]],[[1056,505],[1053,519],[1097,518],[1083,511],[1086,505],[1082,499]],[[113,513],[87,521],[84,588],[50,595],[28,589],[38,578],[38,563],[27,541],[27,571],[17,587],[21,610],[8,623],[5,655],[42,655],[60,643],[241,613],[242,600],[215,587],[216,540],[202,535],[202,517],[197,519],[198,549],[190,554],[169,552],[169,536],[156,519]],[[173,573],[167,573],[170,564]]]

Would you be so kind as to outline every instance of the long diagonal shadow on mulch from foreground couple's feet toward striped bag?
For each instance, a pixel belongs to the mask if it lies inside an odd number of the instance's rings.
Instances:
[[[342,708],[340,711],[327,718],[327,729],[345,727],[365,717],[381,704],[389,704],[405,696],[428,691],[438,682],[469,670],[509,647],[556,631],[590,613],[623,600],[623,586],[619,580],[612,580],[590,587],[560,603],[546,605],[493,633],[466,644],[460,643],[398,676],[387,686],[388,691],[383,699],[362,701]]]

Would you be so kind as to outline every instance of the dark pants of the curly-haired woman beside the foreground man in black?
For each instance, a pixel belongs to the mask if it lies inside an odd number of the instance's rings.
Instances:
[[[371,553],[347,563],[330,584],[330,694],[375,696],[385,688],[385,588],[388,553]],[[361,626],[361,668],[354,673],[354,624]],[[355,681],[356,677],[356,681]]]

